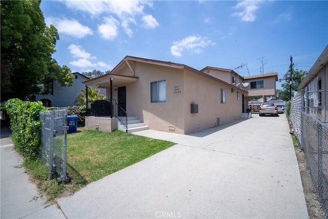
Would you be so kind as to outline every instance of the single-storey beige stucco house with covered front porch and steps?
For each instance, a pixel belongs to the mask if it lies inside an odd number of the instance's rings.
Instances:
[[[84,84],[112,96],[113,118],[86,117],[86,128],[102,131],[118,128],[115,116],[126,112],[144,128],[187,134],[236,120],[248,105],[244,88],[187,65],[133,56]]]

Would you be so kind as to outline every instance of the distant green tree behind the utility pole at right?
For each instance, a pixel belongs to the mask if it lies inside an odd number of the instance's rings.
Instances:
[[[284,74],[283,78],[279,79],[279,82],[283,81],[281,84],[282,90],[277,90],[279,99],[289,101],[290,82],[292,82],[292,96],[294,96],[294,92],[299,91],[298,86],[303,81],[307,73],[308,71],[293,69],[292,78],[290,78],[291,70],[288,70],[288,72]]]

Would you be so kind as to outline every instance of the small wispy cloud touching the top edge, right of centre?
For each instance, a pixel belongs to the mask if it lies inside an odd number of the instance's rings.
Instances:
[[[233,9],[241,9],[241,12],[235,12],[231,14],[232,16],[238,16],[241,18],[241,21],[244,22],[254,22],[256,19],[255,11],[258,9],[258,5],[261,1],[242,1],[239,2]]]

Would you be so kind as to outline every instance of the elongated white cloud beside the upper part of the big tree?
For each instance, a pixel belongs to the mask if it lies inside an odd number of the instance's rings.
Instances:
[[[48,25],[54,25],[57,28],[58,33],[63,33],[76,38],[83,38],[86,35],[93,34],[93,31],[89,27],[81,25],[75,19],[69,20],[66,18],[60,19],[47,17],[45,21]]]

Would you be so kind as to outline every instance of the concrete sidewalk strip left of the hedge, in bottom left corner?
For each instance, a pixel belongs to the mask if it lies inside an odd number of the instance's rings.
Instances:
[[[65,218],[29,181],[22,157],[14,150],[10,129],[1,127],[1,218]]]

